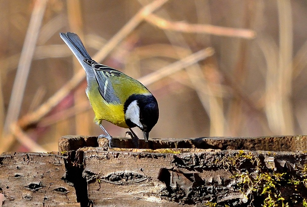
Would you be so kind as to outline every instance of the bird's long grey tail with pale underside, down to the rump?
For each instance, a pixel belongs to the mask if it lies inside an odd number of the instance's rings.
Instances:
[[[69,49],[73,52],[76,56],[82,67],[84,68],[85,72],[89,74],[93,74],[93,69],[91,66],[84,62],[84,59],[91,60],[92,58],[88,55],[83,43],[80,40],[80,37],[71,32],[67,32],[66,34],[60,32],[60,37],[64,40],[64,42],[68,45]]]

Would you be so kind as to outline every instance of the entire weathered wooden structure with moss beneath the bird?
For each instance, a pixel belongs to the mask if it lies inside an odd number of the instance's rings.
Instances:
[[[54,154],[3,153],[3,206],[307,203],[306,136],[150,139],[142,149],[128,138],[107,143],[65,136]]]

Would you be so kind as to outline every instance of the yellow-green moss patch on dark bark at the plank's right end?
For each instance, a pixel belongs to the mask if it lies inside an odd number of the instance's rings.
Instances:
[[[237,187],[251,203],[257,202],[264,207],[287,207],[294,204],[307,207],[306,164],[293,172],[277,173],[264,166],[258,156],[244,151],[239,151],[235,156],[224,156],[216,162],[232,174]],[[287,198],[283,194],[285,189],[290,190]]]

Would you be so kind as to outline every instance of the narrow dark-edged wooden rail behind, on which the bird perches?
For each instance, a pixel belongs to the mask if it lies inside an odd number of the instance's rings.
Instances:
[[[59,151],[77,150],[80,147],[105,147],[107,141],[98,137],[64,136],[59,139]],[[118,148],[134,148],[130,138],[114,137]],[[197,148],[197,149],[242,149],[263,151],[306,151],[307,136],[273,137],[200,137],[150,139],[148,143],[140,139],[141,149]]]

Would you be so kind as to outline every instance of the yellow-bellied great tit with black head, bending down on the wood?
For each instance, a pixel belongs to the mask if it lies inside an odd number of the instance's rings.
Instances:
[[[99,138],[107,138],[109,147],[112,147],[113,137],[102,125],[102,121],[106,120],[116,126],[128,128],[130,132],[126,133],[137,147],[139,139],[131,129],[133,127],[142,130],[145,142],[148,142],[149,132],[159,118],[158,103],[153,94],[136,79],[92,60],[76,33],[60,32],[60,37],[85,70],[85,92],[95,114],[94,121],[104,132]]]

